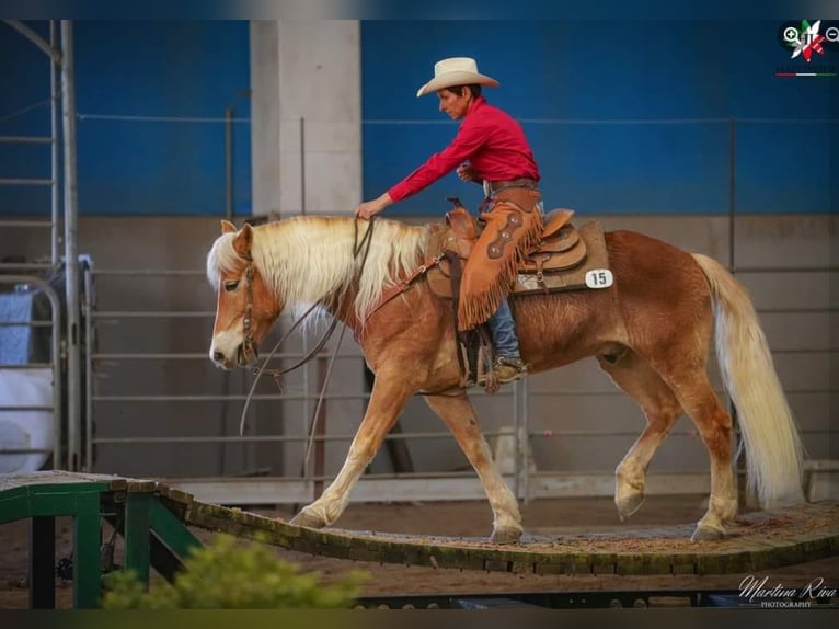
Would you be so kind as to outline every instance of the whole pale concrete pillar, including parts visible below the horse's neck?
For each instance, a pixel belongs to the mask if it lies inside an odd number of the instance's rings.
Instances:
[[[253,214],[289,217],[353,214],[361,201],[361,82],[358,21],[252,21],[251,119]],[[307,335],[308,342],[313,336]],[[289,341],[285,351],[302,355],[311,345]],[[345,342],[346,350],[349,342]],[[332,379],[363,388],[364,367],[340,361]],[[289,381],[318,392],[314,363]],[[299,379],[298,379],[299,378]],[[356,382],[354,385],[354,382]],[[287,401],[279,408],[254,409],[256,434],[307,434],[313,399]],[[364,415],[361,401],[330,405],[326,430],[352,433]],[[347,444],[329,443],[326,473],[343,462]],[[297,476],[304,444],[262,444],[254,467],[269,466]],[[312,457],[314,458],[314,456]],[[315,466],[309,461],[308,469]]]

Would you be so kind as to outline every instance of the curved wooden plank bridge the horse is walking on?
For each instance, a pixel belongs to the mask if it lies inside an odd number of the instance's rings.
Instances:
[[[532,536],[515,546],[484,538],[389,535],[292,526],[239,508],[200,502],[183,489],[149,479],[62,471],[0,479],[0,496],[65,493],[73,484],[93,491],[143,492],[182,523],[266,544],[355,561],[536,574],[731,574],[813,561],[839,553],[839,505],[797,505],[747,514],[720,541],[692,542],[690,527],[676,526],[576,536]],[[61,488],[60,490],[58,488]],[[55,491],[55,490],[54,490]],[[42,496],[43,500],[43,496]],[[630,549],[630,550],[628,550]]]

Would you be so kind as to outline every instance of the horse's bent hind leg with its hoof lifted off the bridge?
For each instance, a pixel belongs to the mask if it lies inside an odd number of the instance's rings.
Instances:
[[[628,350],[617,362],[598,357],[614,384],[634,399],[646,415],[646,427],[614,470],[614,504],[621,521],[644,502],[646,470],[658,446],[682,413],[670,388],[637,354]]]

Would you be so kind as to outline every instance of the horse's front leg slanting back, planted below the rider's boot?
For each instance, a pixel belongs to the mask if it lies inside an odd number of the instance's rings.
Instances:
[[[521,515],[513,492],[493,462],[490,446],[475,419],[472,403],[461,396],[428,396],[426,402],[455,435],[460,449],[483,483],[493,511],[494,544],[514,544],[521,537]]]

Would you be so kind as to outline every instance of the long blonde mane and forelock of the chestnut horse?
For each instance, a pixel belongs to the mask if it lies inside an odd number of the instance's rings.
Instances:
[[[370,225],[375,227],[365,260],[366,243],[357,255],[354,247]],[[207,278],[216,289],[222,272],[241,265],[234,236],[220,236],[207,255]],[[357,278],[354,310],[364,321],[382,293],[421,264],[427,243],[427,227],[384,218],[371,224],[350,217],[296,216],[254,227],[251,255],[266,285],[292,307],[343,296]]]

